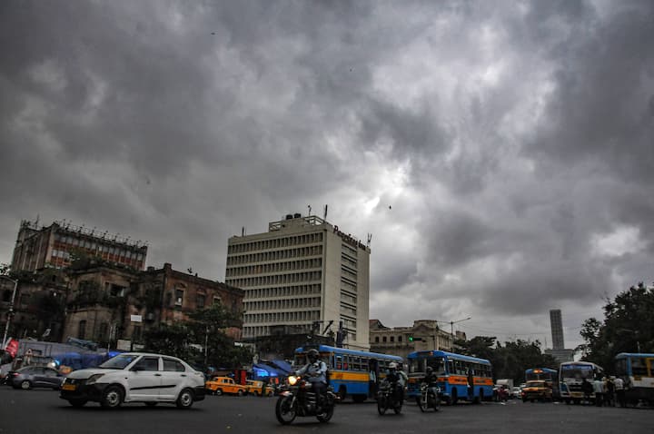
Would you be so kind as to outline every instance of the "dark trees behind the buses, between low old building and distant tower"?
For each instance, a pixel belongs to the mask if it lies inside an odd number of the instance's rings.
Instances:
[[[461,353],[490,360],[495,379],[524,380],[524,371],[530,368],[558,369],[559,363],[550,355],[543,354],[538,340],[504,342],[495,337],[477,336],[471,340],[457,341]]]

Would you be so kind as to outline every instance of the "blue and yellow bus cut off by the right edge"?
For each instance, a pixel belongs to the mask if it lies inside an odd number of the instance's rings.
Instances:
[[[654,354],[620,352],[614,361],[616,375],[624,381],[626,401],[654,404]]]

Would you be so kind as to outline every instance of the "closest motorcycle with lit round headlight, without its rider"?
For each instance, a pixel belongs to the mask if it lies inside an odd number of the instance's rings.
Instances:
[[[332,388],[322,396],[319,405],[318,396],[312,391],[312,385],[305,378],[291,375],[288,385],[284,385],[275,405],[275,416],[282,425],[292,423],[297,416],[315,416],[321,422],[332,419],[336,395]]]

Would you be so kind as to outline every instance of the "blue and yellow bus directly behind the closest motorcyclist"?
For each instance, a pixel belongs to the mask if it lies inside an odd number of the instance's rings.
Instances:
[[[378,381],[385,376],[391,361],[401,366],[399,356],[377,352],[349,350],[329,345],[306,345],[295,350],[293,369],[301,368],[306,361],[306,352],[318,350],[321,360],[327,364],[329,383],[341,400],[352,396],[354,402],[363,402],[377,392]]]

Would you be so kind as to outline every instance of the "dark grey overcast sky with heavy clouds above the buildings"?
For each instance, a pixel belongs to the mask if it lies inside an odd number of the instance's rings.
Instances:
[[[573,347],[654,281],[653,44],[650,0],[4,1],[0,262],[38,216],[224,281],[328,204],[371,318]]]

